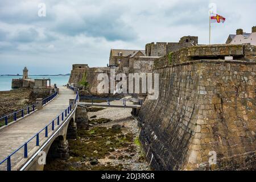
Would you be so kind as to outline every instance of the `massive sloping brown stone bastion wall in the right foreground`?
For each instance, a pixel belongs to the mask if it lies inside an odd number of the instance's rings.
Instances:
[[[147,98],[138,116],[153,168],[256,169],[255,62],[199,60],[154,72],[159,98]]]

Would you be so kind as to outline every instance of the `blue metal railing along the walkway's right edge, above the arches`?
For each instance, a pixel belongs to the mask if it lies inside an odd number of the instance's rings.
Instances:
[[[77,101],[79,101],[79,95],[78,92],[76,93],[76,98],[74,99],[73,104],[76,105]],[[67,118],[69,115],[65,114],[64,117],[64,113],[70,113],[72,111],[72,105],[69,105],[67,107],[67,109],[65,109],[60,115],[58,115],[55,119],[53,119],[51,122],[49,122],[48,125],[46,125],[46,127],[44,127],[42,130],[40,130],[38,133],[36,133],[32,138],[30,138],[29,140],[27,140],[27,142],[25,142],[22,146],[20,146],[18,149],[16,149],[13,153],[11,153],[9,156],[7,156],[4,160],[2,160],[2,162],[0,162],[0,165],[7,162],[7,171],[11,171],[11,156],[13,156],[14,154],[16,154],[18,151],[20,151],[22,148],[24,148],[24,154],[23,154],[23,158],[27,158],[28,157],[28,143],[30,143],[33,139],[36,139],[36,143],[35,146],[39,146],[40,144],[40,135],[39,134],[43,134],[44,133],[44,137],[48,138],[48,126],[51,126],[51,130],[55,131],[57,129],[57,127],[55,127],[55,125],[59,126],[61,123],[60,122],[64,122],[65,118]],[[61,117],[61,121],[60,121],[60,117]]]

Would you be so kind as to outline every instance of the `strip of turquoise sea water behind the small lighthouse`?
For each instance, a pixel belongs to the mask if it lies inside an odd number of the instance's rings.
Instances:
[[[50,78],[51,85],[57,84],[57,86],[66,85],[69,80],[69,76],[28,76],[29,78]],[[0,76],[0,91],[11,90],[11,80],[22,78],[22,76]]]

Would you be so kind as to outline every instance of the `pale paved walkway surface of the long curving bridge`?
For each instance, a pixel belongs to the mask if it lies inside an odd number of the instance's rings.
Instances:
[[[27,142],[33,135],[44,129],[53,119],[62,113],[69,106],[69,99],[75,98],[75,93],[67,87],[60,87],[58,96],[45,105],[42,109],[28,115],[20,121],[0,130],[0,162],[7,158],[17,148]],[[58,127],[58,126],[56,126]],[[53,133],[51,127],[48,129],[49,137]],[[44,133],[40,134],[41,140],[44,140]],[[28,151],[36,148],[36,139],[28,143]],[[11,157],[11,164],[15,166],[23,159],[24,150],[21,148],[15,155]],[[0,166],[0,170],[6,170],[6,163]]]

